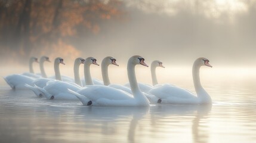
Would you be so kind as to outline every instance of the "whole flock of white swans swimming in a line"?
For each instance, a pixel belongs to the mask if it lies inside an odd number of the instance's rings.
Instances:
[[[110,64],[119,66],[116,59],[106,57],[101,62],[103,82],[92,79],[90,66],[97,65],[93,57],[76,58],[73,70],[75,79],[60,74],[59,66],[64,64],[63,58],[55,58],[55,76],[48,77],[45,74],[44,62],[50,62],[43,56],[39,60],[41,74],[35,74],[32,64],[38,63],[38,59],[31,57],[29,61],[29,73],[11,74],[4,77],[8,85],[13,89],[30,89],[37,97],[47,100],[79,100],[84,105],[93,106],[149,106],[150,104],[211,104],[212,100],[203,89],[199,69],[201,66],[212,67],[206,58],[195,60],[192,73],[196,95],[178,86],[165,84],[159,85],[156,79],[156,67],[164,67],[161,61],[153,61],[151,74],[153,86],[138,83],[135,76],[135,66],[147,66],[144,58],[134,55],[128,60],[127,73],[129,83],[126,85],[112,84],[109,80],[108,67]],[[84,64],[84,80],[79,76],[79,66]]]

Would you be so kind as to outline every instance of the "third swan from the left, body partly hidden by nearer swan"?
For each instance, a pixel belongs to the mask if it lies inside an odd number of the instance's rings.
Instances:
[[[55,77],[58,77],[58,79],[56,78],[56,80],[61,80],[60,64],[64,64],[63,58],[60,58],[60,57],[55,58],[55,60],[54,60],[54,71],[55,71]],[[41,77],[39,79],[33,80],[33,82],[30,83],[30,84],[25,84],[24,86],[26,86],[27,88],[32,90],[37,97],[42,97],[43,94],[35,86],[38,86],[39,88],[43,88],[44,86],[47,85],[48,82],[53,81],[53,80],[54,79],[51,79],[51,78]]]

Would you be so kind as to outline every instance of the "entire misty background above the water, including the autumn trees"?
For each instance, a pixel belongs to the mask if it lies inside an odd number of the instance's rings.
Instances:
[[[125,67],[132,55],[141,55],[149,65],[153,60],[162,61],[166,69],[158,70],[158,80],[163,83],[186,75],[191,80],[191,67],[198,57],[208,58],[218,69],[203,68],[207,73],[202,74],[212,78],[221,72],[226,73],[223,78],[230,73],[243,78],[253,74],[255,67],[255,0],[0,3],[2,76],[28,71],[29,57],[42,55],[51,61],[63,57],[70,76],[76,57],[92,56],[100,64],[110,55],[120,65],[109,68],[110,74],[115,74],[110,75],[113,82],[126,76]],[[14,66],[22,68],[10,71]],[[45,63],[45,67],[53,74],[53,62]],[[150,70],[143,68],[138,67],[138,80],[151,83]],[[34,69],[39,72],[38,65]],[[92,76],[101,79],[100,67],[92,66]]]

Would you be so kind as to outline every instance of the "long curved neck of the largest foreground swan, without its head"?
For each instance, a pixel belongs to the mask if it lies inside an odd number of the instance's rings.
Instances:
[[[135,76],[135,65],[131,64],[128,62],[127,65],[127,73],[128,73],[128,79],[129,79],[129,85],[131,86],[131,92],[134,95],[134,97],[137,95],[137,92],[142,92],[140,91],[140,88],[138,88],[138,82]]]

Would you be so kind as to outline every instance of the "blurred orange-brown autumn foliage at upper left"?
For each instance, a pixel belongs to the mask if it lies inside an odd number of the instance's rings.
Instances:
[[[1,56],[79,56],[73,39],[97,34],[100,23],[119,19],[120,5],[118,0],[0,0]]]

